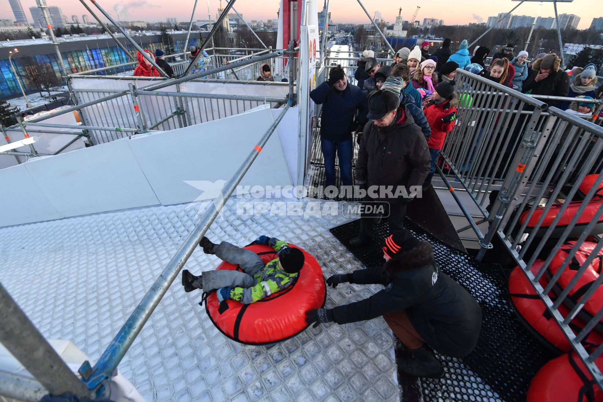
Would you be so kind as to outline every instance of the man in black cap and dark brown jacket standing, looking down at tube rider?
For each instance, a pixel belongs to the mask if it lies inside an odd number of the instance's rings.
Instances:
[[[402,78],[389,77],[381,89],[371,93],[367,118],[373,121],[362,130],[356,162],[356,183],[367,190],[362,204],[387,203],[391,233],[404,228],[406,203],[422,188],[431,165],[421,129],[408,107],[400,106],[403,84]],[[370,242],[373,224],[374,217],[362,213],[360,233],[350,240],[350,245]]]

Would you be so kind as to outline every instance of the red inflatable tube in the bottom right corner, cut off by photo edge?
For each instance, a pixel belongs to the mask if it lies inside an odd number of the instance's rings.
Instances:
[[[603,357],[599,356],[595,365],[603,369]],[[601,389],[573,351],[542,366],[526,394],[526,402],[602,401]]]

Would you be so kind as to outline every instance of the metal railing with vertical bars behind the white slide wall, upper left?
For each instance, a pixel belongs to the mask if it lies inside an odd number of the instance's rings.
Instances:
[[[74,139],[66,141],[65,145],[60,147],[57,152],[52,152],[52,154],[58,154],[83,136],[87,137],[91,145],[98,145],[132,134],[188,127],[189,125],[236,115],[262,104],[270,104],[270,107],[274,108],[287,101],[286,94],[288,93],[289,84],[253,80],[259,75],[260,64],[268,62],[274,66],[274,63],[276,63],[274,60],[280,60],[285,52],[285,50],[271,51],[271,49],[260,49],[259,52],[243,56],[218,55],[221,57],[219,60],[223,61],[222,66],[213,67],[215,64],[214,60],[216,60],[214,57],[209,63],[209,69],[206,72],[178,78],[177,80],[165,80],[162,77],[87,74],[91,72],[106,72],[111,67],[73,74],[69,77],[68,86],[75,104],[74,107],[55,110],[51,114],[37,116],[26,121],[19,120],[17,125],[0,128],[5,134],[21,132],[24,136],[27,136],[28,133],[73,134]],[[295,61],[294,58],[293,64],[295,64]],[[124,64],[134,65],[136,63]],[[175,72],[184,72],[188,66],[188,61],[175,63],[172,66],[175,67]],[[74,89],[72,86],[74,80],[94,80],[99,78],[125,81],[125,83],[121,85],[123,89]],[[135,82],[136,85],[128,86],[126,89],[126,85],[130,81]],[[180,85],[182,83],[191,81],[221,84],[223,86],[242,84],[263,87],[270,86],[271,88],[282,87],[282,90],[276,91],[276,93],[280,92],[282,96],[195,93],[181,88]],[[294,83],[292,84],[295,85]],[[160,92],[157,90],[168,86],[175,86],[175,92]],[[265,90],[262,92],[270,93],[271,91]],[[80,116],[81,125],[51,124],[45,122],[48,118],[74,111]],[[62,130],[58,131],[59,128]],[[8,138],[7,135],[5,137]],[[34,145],[30,145],[30,148],[31,152],[10,151],[1,152],[0,155],[11,155],[14,157],[48,155],[37,152]],[[17,162],[20,163],[21,160],[17,158]]]

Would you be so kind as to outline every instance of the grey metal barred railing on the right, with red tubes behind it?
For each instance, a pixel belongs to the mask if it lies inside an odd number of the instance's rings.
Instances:
[[[576,290],[576,283],[590,264],[603,259],[603,242],[598,242],[586,261],[569,271],[579,248],[587,239],[593,241],[589,236],[597,234],[597,225],[603,222],[603,198],[597,193],[603,180],[603,128],[469,72],[458,69],[456,77],[457,123],[440,152],[450,168],[437,169],[478,236],[478,259],[492,247],[494,236],[499,236],[573,350],[603,388],[603,375],[594,363],[603,347],[587,350],[581,344],[600,325],[603,309],[592,311],[591,307],[576,333],[569,327],[576,315],[585,311],[585,304],[593,300],[603,275],[587,286],[569,309],[558,309],[569,301],[569,294]],[[596,175],[595,185],[586,195],[578,193],[589,174]],[[467,191],[472,205],[463,204],[452,181]],[[485,234],[475,217],[469,215],[474,206],[481,212],[481,221],[488,222]],[[588,214],[583,215],[587,209]],[[574,243],[568,245],[569,240]],[[561,258],[554,261],[555,256]],[[549,271],[543,276],[553,264],[555,274]],[[534,266],[540,268],[532,269]],[[561,275],[572,279],[566,280],[559,292]],[[557,298],[552,301],[549,292],[554,289]]]

